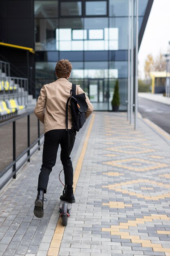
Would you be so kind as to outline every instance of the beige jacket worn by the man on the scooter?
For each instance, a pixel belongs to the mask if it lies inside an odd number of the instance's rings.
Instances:
[[[59,78],[53,83],[42,87],[40,96],[34,109],[35,115],[44,124],[44,133],[54,129],[66,129],[66,102],[70,97],[72,83],[66,78]],[[84,93],[79,85],[76,85],[76,94]],[[86,96],[88,110],[86,119],[93,112],[93,105]],[[68,129],[72,127],[71,109],[68,104]]]

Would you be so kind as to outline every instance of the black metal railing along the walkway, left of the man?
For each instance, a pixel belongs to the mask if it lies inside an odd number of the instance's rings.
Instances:
[[[16,178],[17,171],[23,166],[23,164],[28,161],[30,162],[30,157],[35,153],[35,151],[40,150],[40,145],[43,142],[43,136],[44,134],[40,135],[40,121],[38,120],[38,138],[33,141],[32,144],[30,144],[30,115],[33,113],[33,110],[30,112],[27,112],[26,114],[20,116],[20,117],[15,117],[9,121],[5,121],[0,124],[0,128],[3,126],[7,126],[8,124],[13,124],[13,161],[8,164],[1,172],[0,172],[0,181],[3,176],[5,177],[5,180],[0,182],[0,189],[13,177],[14,179]],[[18,156],[16,157],[16,121],[19,119],[22,119],[24,117],[27,117],[27,148]],[[4,145],[5,146],[5,145]],[[33,150],[31,150],[33,149]],[[24,157],[25,156],[25,157]],[[8,157],[8,156],[7,156]],[[18,161],[24,157],[24,160],[22,160],[21,163],[17,164]],[[16,165],[17,164],[17,165]],[[7,173],[10,169],[12,169],[11,173]]]

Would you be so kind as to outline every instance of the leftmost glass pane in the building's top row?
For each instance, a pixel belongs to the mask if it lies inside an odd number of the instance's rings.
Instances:
[[[34,1],[35,18],[57,18],[58,1]]]

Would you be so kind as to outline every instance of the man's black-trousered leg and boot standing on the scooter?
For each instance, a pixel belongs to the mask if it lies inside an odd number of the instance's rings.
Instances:
[[[65,195],[60,196],[61,200],[65,200],[67,202],[74,203],[75,198],[73,195],[73,166],[70,158],[71,151],[75,142],[75,134],[76,132],[73,130],[69,130],[70,132],[70,145],[68,144],[68,135],[67,131],[60,142],[61,145],[61,161],[64,168],[64,179],[65,179]]]

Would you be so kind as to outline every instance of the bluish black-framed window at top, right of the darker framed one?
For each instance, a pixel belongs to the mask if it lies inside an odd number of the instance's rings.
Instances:
[[[86,15],[107,15],[106,1],[86,1]]]

